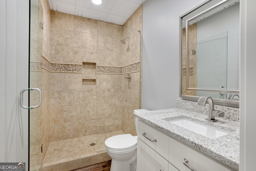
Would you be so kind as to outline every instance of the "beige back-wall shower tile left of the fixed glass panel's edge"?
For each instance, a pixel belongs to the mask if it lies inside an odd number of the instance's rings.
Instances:
[[[96,62],[97,22],[51,11],[51,62]],[[96,134],[96,87],[82,73],[50,73],[50,140]]]

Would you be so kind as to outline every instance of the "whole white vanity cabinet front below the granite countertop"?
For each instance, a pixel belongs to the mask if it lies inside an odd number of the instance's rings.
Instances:
[[[195,171],[235,171],[140,120],[137,126],[137,171],[191,171],[184,159]]]

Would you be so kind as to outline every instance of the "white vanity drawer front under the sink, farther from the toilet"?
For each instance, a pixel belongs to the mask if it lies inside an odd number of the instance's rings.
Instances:
[[[183,164],[184,159],[196,171],[235,171],[176,139],[170,138],[169,143],[169,162],[181,171],[191,171]]]

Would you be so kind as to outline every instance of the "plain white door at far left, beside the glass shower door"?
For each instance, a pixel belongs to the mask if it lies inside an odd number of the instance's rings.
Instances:
[[[1,0],[0,23],[0,162],[26,163],[28,170],[28,109],[19,97],[28,87],[29,1]]]

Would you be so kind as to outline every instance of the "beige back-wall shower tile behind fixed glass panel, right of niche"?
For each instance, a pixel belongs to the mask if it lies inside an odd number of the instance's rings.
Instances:
[[[97,65],[121,67],[122,28],[98,22]],[[97,74],[97,133],[122,129],[121,76]]]

